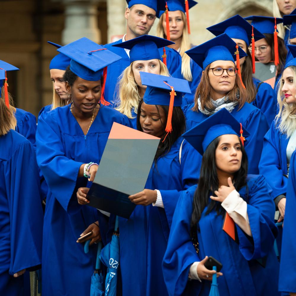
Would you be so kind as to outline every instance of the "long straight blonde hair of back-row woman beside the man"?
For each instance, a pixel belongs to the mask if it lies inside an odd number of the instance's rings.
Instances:
[[[187,21],[186,21],[186,16],[183,11],[181,11],[182,15],[182,21],[184,23],[183,27],[183,34],[182,34],[182,40],[181,40],[181,47],[180,47],[180,55],[182,58],[182,75],[184,79],[188,81],[192,81],[192,73],[191,73],[191,67],[190,67],[190,57],[187,55],[185,52],[186,50],[191,48],[191,43],[189,41],[189,35],[187,31]],[[166,38],[165,32],[163,30],[163,18],[165,17],[165,14],[163,13],[160,16],[159,22],[157,24],[156,28],[156,35],[161,38]]]

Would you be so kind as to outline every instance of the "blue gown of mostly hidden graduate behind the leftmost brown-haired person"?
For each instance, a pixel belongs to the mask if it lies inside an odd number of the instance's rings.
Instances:
[[[37,130],[36,117],[32,113],[20,108],[15,109],[15,118],[17,119],[15,130],[34,145]]]

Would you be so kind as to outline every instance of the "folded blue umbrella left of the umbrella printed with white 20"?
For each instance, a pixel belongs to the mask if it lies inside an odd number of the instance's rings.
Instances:
[[[88,253],[89,252],[89,243],[91,240],[88,240],[84,244],[84,252]],[[103,243],[98,242],[98,251],[96,255],[96,269],[94,271],[94,274],[91,277],[91,292],[90,296],[103,296],[104,295],[104,278],[102,275],[102,270],[101,270],[101,260],[100,260],[100,255],[101,255],[101,250],[102,250]]]

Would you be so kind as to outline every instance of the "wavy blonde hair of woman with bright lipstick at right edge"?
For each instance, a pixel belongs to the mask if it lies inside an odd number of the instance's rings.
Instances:
[[[289,68],[293,72],[294,88],[296,89],[296,67],[290,66]],[[277,94],[279,113],[276,115],[275,123],[279,123],[278,128],[281,133],[284,133],[288,137],[290,137],[296,129],[296,103],[287,104],[286,102],[284,93],[281,90],[284,85],[282,82],[283,75],[284,72],[281,74],[280,86]]]

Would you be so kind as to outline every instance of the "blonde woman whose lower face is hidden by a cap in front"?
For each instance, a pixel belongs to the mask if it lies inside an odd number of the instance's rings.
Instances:
[[[118,97],[114,107],[131,119],[136,127],[138,105],[143,99],[147,86],[142,85],[140,72],[170,76],[168,68],[160,59],[158,48],[173,42],[163,38],[143,35],[113,46],[130,50],[131,64],[123,71],[118,80]],[[184,105],[187,104],[185,101]]]

